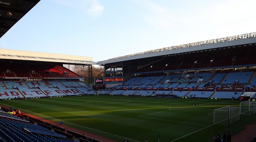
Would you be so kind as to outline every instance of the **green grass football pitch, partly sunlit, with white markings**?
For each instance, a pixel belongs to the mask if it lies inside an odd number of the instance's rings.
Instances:
[[[256,118],[244,115],[229,127],[213,125],[214,109],[239,107],[240,101],[231,100],[95,95],[4,100],[0,104],[116,141],[127,138],[129,142],[157,142],[158,133],[160,142],[212,142],[215,131],[234,135]]]

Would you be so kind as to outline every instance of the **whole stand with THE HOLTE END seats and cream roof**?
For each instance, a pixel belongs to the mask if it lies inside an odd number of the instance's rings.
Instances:
[[[91,57],[0,49],[0,99],[95,94]],[[89,86],[84,83],[88,66]],[[76,72],[76,73],[75,73]]]

